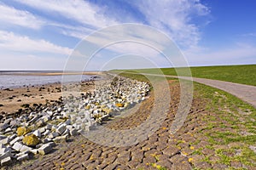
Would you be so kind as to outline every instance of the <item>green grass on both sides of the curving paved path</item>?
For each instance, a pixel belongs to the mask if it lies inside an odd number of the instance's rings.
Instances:
[[[256,85],[253,82],[255,69],[256,65],[235,65],[195,67],[191,71],[197,77]],[[154,73],[153,69],[144,71]],[[162,69],[162,71],[165,74],[175,75],[174,69]],[[197,71],[199,72],[195,74]],[[218,76],[221,72],[224,74]],[[236,76],[238,74],[240,76]],[[127,72],[120,75],[148,82],[148,79],[142,75]],[[168,79],[173,80],[173,78]],[[196,141],[189,144],[190,149],[193,149],[189,161],[194,169],[201,169],[197,166],[198,162],[224,165],[227,169],[256,167],[256,154],[253,151],[256,144],[256,109],[231,94],[201,83],[194,82],[194,90],[194,99],[202,99],[204,102],[201,105],[207,111],[207,114],[201,115],[198,112],[187,117],[187,120],[192,120],[190,122],[193,122],[195,117],[200,117],[200,121],[197,122],[200,126],[195,133],[188,132],[196,137]],[[206,141],[202,145],[203,139]],[[180,139],[177,147],[183,147],[183,143],[184,140]]]

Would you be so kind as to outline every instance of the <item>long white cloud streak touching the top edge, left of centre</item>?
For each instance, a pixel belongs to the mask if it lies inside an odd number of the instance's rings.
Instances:
[[[83,0],[26,0],[19,1],[19,3],[24,3],[33,8],[38,8],[53,14],[61,14],[62,17],[76,20],[84,24],[84,26],[101,28],[117,23],[113,18],[108,18],[103,14],[104,8],[100,8]]]

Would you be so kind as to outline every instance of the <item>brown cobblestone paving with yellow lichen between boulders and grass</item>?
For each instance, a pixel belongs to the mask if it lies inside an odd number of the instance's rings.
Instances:
[[[253,169],[244,165],[240,160],[222,161],[222,156],[234,156],[239,150],[229,148],[237,147],[241,143],[230,143],[230,145],[214,143],[204,135],[214,131],[222,132],[223,127],[215,126],[207,128],[212,113],[205,111],[205,101],[193,99],[189,116],[183,127],[174,135],[169,132],[172,125],[177,105],[179,103],[179,86],[172,83],[172,104],[161,127],[138,144],[127,147],[108,147],[95,144],[80,136],[73,142],[62,144],[61,150],[42,156],[35,161],[25,161],[24,164],[13,167],[20,169],[224,169],[227,167]],[[154,98],[143,102],[140,110],[125,118],[116,118],[106,123],[106,127],[112,129],[129,129],[136,127],[145,121],[149,114]],[[212,122],[223,122],[221,117]],[[234,129],[225,127],[225,131]],[[204,133],[201,133],[204,131]],[[218,140],[218,139],[216,139]],[[219,139],[221,140],[221,139]],[[221,141],[220,141],[221,143]],[[218,153],[218,150],[227,151]],[[239,153],[238,153],[239,154]],[[251,160],[249,160],[251,161]],[[255,165],[255,164],[254,164]]]

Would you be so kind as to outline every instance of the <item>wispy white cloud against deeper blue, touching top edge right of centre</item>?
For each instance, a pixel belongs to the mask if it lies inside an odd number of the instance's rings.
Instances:
[[[207,15],[209,9],[199,0],[140,1],[136,3],[150,26],[168,33],[183,48],[197,46],[201,34],[191,22],[195,15]]]

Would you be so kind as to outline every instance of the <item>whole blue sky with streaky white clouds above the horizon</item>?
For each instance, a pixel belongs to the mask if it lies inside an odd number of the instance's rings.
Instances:
[[[122,23],[165,32],[191,66],[256,64],[255,7],[254,0],[2,0],[0,70],[63,70],[84,37]],[[127,43],[117,48],[100,55],[142,49]]]

